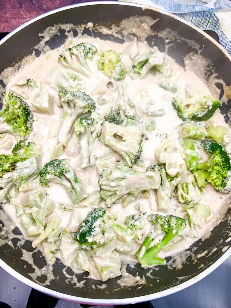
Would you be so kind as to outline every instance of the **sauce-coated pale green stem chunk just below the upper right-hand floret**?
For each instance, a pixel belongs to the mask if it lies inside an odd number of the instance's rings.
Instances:
[[[205,126],[197,123],[185,123],[180,126],[179,134],[182,138],[205,140],[208,135]]]

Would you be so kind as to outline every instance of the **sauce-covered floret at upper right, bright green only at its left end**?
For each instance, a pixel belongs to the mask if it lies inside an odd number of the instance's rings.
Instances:
[[[139,78],[144,79],[152,67],[162,65],[165,54],[160,52],[157,47],[150,50],[150,53],[141,55],[135,63],[132,64],[132,70]]]

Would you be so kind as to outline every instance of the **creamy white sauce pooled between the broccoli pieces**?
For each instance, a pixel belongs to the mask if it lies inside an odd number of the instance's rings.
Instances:
[[[67,42],[69,46],[67,46]],[[7,80],[7,88],[6,92],[11,91],[15,94],[17,93],[17,89],[20,86],[20,81],[23,79],[34,79],[38,84],[38,92],[43,95],[47,95],[48,93],[53,97],[54,100],[54,111],[52,114],[48,115],[46,113],[39,113],[33,110],[33,99],[26,98],[24,99],[26,103],[32,108],[34,114],[34,124],[33,131],[30,135],[27,136],[29,141],[34,141],[42,146],[43,149],[43,157],[41,158],[41,168],[49,162],[53,157],[52,153],[55,147],[58,145],[57,141],[57,132],[62,120],[63,109],[58,107],[58,88],[55,85],[57,81],[57,75],[59,71],[66,70],[58,63],[58,57],[62,53],[62,51],[67,47],[75,46],[79,43],[86,42],[95,45],[98,51],[107,51],[110,49],[115,50],[117,53],[122,53],[125,48],[127,48],[130,43],[118,44],[110,41],[101,41],[100,39],[94,39],[91,37],[84,36],[82,38],[71,38],[68,39],[66,43],[55,50],[47,51],[45,54],[41,54],[39,58],[35,58],[33,62],[28,61],[26,65],[11,75]],[[149,47],[146,43],[138,42],[139,52],[143,54],[149,51]],[[118,97],[118,86],[119,82],[112,81],[107,76],[105,76],[101,71],[97,69],[97,59],[98,55],[95,55],[93,61],[87,59],[87,65],[91,71],[90,78],[87,78],[83,75],[79,75],[81,78],[81,85],[83,87],[83,91],[90,95],[92,99],[96,102],[96,110],[99,115],[103,118],[106,112],[111,110],[113,104],[115,104]],[[129,56],[121,55],[121,59],[123,60],[125,66],[130,66],[133,63],[133,60],[130,59]],[[152,166],[157,164],[155,152],[157,149],[163,146],[163,144],[167,140],[176,140],[177,145],[177,127],[182,123],[182,120],[177,116],[176,110],[172,107],[172,98],[174,96],[185,97],[185,86],[190,84],[195,86],[197,90],[201,93],[201,95],[211,95],[208,87],[205,83],[201,81],[193,72],[189,70],[184,70],[184,68],[180,67],[176,62],[166,55],[164,63],[172,67],[172,75],[168,79],[169,83],[173,83],[177,87],[177,93],[171,93],[169,91],[165,91],[162,89],[158,82],[160,81],[160,75],[153,75],[149,73],[145,79],[135,79],[132,80],[128,75],[124,79],[124,82],[127,85],[128,97],[132,100],[138,110],[142,108],[146,108],[146,103],[148,100],[152,99],[151,104],[149,104],[150,109],[159,110],[163,108],[165,110],[164,116],[150,116],[145,113],[142,113],[143,123],[147,120],[155,120],[156,129],[152,132],[144,131],[143,133],[143,142],[142,148],[143,152],[140,156],[140,162],[138,166],[134,166],[133,168],[140,172],[145,172],[148,166]],[[107,87],[108,82],[113,82],[113,88]],[[16,90],[15,90],[16,89]],[[39,94],[39,95],[40,95]],[[110,94],[112,95],[114,101],[113,103],[100,105],[97,103],[97,99],[100,95]],[[112,100],[113,100],[112,99]],[[217,123],[217,125],[225,126],[230,132],[229,125],[225,123],[223,116],[221,115],[219,109],[215,112],[210,120],[213,120]],[[100,123],[97,124],[98,129],[100,129]],[[167,137],[167,138],[166,138]],[[174,139],[176,138],[176,139]],[[6,135],[4,138],[0,140],[0,151],[1,154],[10,154],[12,147],[14,146],[16,140],[13,136]],[[175,142],[175,141],[174,141]],[[6,145],[10,144],[9,146]],[[65,159],[71,167],[74,168],[77,179],[79,183],[82,185],[84,191],[89,195],[91,193],[99,191],[99,173],[97,168],[95,167],[95,158],[94,156],[100,157],[104,155],[108,151],[108,147],[104,145],[102,142],[96,140],[93,146],[91,158],[90,158],[90,166],[87,168],[80,168],[80,149],[77,142],[77,138],[75,133],[73,133],[71,140],[69,141],[67,148],[64,149],[59,159]],[[204,155],[204,159],[206,159],[205,152],[202,153]],[[39,178],[33,181],[34,189],[28,192],[19,192],[17,196],[13,197],[10,203],[2,205],[4,210],[9,213],[12,219],[15,222],[15,225],[22,231],[25,235],[24,229],[20,224],[20,219],[16,216],[14,203],[21,204],[23,198],[25,198],[27,193],[33,193],[40,189],[39,187]],[[71,199],[67,194],[66,190],[55,183],[52,183],[49,188],[45,188],[47,190],[47,194],[49,199],[55,202],[55,210],[54,212],[59,217],[62,217],[62,221],[60,224],[61,229],[67,229],[69,232],[75,232],[79,228],[79,225],[86,218],[87,214],[92,209],[84,207],[81,203],[79,207],[75,207],[71,209]],[[175,256],[177,253],[183,252],[185,249],[189,248],[193,242],[197,241],[199,238],[206,238],[209,236],[210,232],[224,217],[227,210],[227,195],[216,192],[209,184],[205,188],[205,193],[203,193],[201,198],[201,203],[209,206],[212,211],[211,219],[208,221],[204,220],[200,226],[196,226],[196,231],[198,237],[187,236],[184,237],[178,245],[172,245],[172,248],[169,250],[162,250],[158,256],[161,258],[165,258],[167,256]],[[66,210],[60,208],[60,204],[63,204]],[[92,204],[94,207],[94,204]],[[104,201],[100,203],[100,206],[107,209]],[[185,212],[182,211],[183,206],[177,203],[176,198],[172,198],[170,200],[170,206],[168,210],[168,214],[178,215],[180,217],[185,217]],[[30,208],[25,208],[26,212],[30,212]],[[147,212],[147,214],[151,213],[159,213],[164,214],[158,211],[158,205],[156,200],[156,192],[151,191],[150,196],[148,198],[139,197],[136,198],[135,201],[132,201],[128,204],[127,207],[123,208],[121,203],[114,204],[109,209],[111,213],[115,215],[115,217],[126,223],[126,216],[139,214],[141,212]],[[49,219],[52,219],[52,215],[50,214],[47,217],[47,222]],[[203,219],[202,219],[203,220]],[[151,232],[152,225],[147,221],[145,227],[142,229],[142,240]],[[74,233],[72,233],[73,235]],[[26,235],[25,235],[26,236]],[[34,238],[30,238],[34,240]],[[178,239],[176,239],[178,240]],[[158,238],[154,240],[154,243],[158,241]],[[120,253],[120,259],[122,264],[134,264],[136,262],[136,258],[134,258],[134,254],[137,249],[140,247],[142,241],[138,241],[133,243],[132,250],[128,255],[124,255]],[[70,247],[67,243],[67,250],[72,252],[74,246],[71,244]],[[39,249],[43,250],[43,245],[38,246]],[[61,258],[61,260],[65,263],[62,251],[58,251],[55,254],[56,257]],[[65,263],[65,265],[70,266],[75,272],[81,272],[81,270],[73,267],[73,259],[68,258],[69,261]],[[90,271],[91,277],[95,279],[99,279],[98,274],[92,270]],[[126,275],[125,275],[126,276]],[[120,282],[120,285],[124,285],[127,283],[128,278],[124,278],[124,280]],[[139,280],[137,278],[136,280]],[[136,281],[134,281],[135,283]]]

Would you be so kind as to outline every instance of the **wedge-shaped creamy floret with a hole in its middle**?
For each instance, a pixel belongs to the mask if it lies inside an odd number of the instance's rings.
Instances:
[[[142,130],[137,127],[105,122],[101,141],[120,154],[129,167],[132,167],[140,159],[142,152]]]

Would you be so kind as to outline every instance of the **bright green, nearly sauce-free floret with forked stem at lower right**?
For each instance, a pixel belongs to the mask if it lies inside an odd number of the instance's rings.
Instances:
[[[157,224],[162,228],[166,226],[164,233],[164,237],[161,241],[159,241],[156,245],[149,248],[152,243],[154,237],[153,234],[150,234],[144,240],[143,244],[140,246],[139,250],[136,253],[136,257],[139,260],[142,267],[148,267],[152,265],[164,265],[166,263],[165,259],[159,258],[157,255],[161,251],[161,249],[174,240],[176,237],[183,235],[186,229],[186,221],[183,218],[168,215],[166,217],[168,220],[169,228],[167,227],[166,222],[160,225],[160,221],[162,219],[156,219]],[[156,223],[155,222],[155,223]]]

